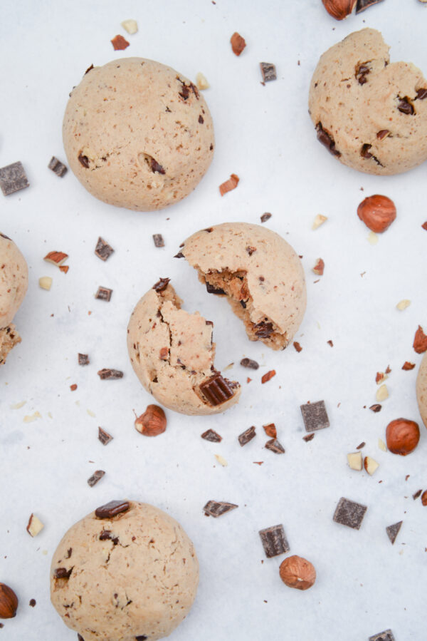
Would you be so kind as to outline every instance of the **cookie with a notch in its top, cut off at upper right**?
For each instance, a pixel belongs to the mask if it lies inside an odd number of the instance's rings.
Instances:
[[[389,64],[380,32],[362,29],[320,57],[309,111],[318,140],[344,165],[391,175],[427,159],[426,98],[421,71]]]

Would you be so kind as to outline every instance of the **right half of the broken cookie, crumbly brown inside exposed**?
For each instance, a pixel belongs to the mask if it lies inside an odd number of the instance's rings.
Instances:
[[[260,225],[225,222],[196,232],[180,252],[208,292],[226,295],[251,341],[285,349],[306,305],[304,272],[288,242]]]

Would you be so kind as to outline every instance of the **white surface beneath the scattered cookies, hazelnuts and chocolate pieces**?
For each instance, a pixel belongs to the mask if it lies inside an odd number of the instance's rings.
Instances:
[[[0,195],[0,229],[30,268],[15,319],[23,341],[0,371],[0,581],[20,600],[0,638],[76,638],[49,602],[51,556],[75,521],[127,497],[167,510],[196,545],[199,593],[174,641],[357,641],[388,627],[396,641],[423,640],[427,508],[411,495],[426,488],[427,435],[422,427],[418,449],[407,458],[380,451],[377,441],[391,419],[421,422],[415,395],[421,357],[411,346],[418,324],[427,330],[426,166],[391,178],[345,168],[317,143],[307,92],[320,54],[364,26],[383,32],[392,61],[413,61],[427,73],[427,6],[386,0],[339,23],[320,0],[1,5],[0,166],[21,160],[31,187]],[[120,26],[127,18],[138,22],[135,36]],[[233,31],[247,42],[239,58],[229,44]],[[126,51],[113,51],[116,34],[130,41]],[[204,96],[216,130],[214,161],[189,198],[162,212],[105,205],[70,172],[60,179],[46,167],[52,155],[65,161],[61,123],[70,89],[91,63],[125,56],[153,58],[193,81],[202,71],[211,83]],[[260,61],[275,63],[278,81],[260,84]],[[221,198],[218,185],[231,173],[241,182]],[[372,246],[356,210],[374,193],[393,198],[398,217]],[[308,304],[295,337],[300,354],[292,346],[271,352],[248,342],[228,304],[209,297],[196,273],[173,259],[179,243],[199,228],[259,222],[265,211],[273,213],[268,227],[303,255]],[[312,231],[317,213],[329,220]],[[164,249],[154,248],[153,233],[162,233]],[[99,235],[115,248],[105,263],[93,253]],[[70,255],[67,275],[43,262],[51,250]],[[311,268],[318,257],[325,275],[315,283]],[[50,292],[38,288],[43,275],[53,277]],[[145,439],[133,427],[133,410],[141,414],[152,398],[130,366],[126,326],[159,276],[172,277],[186,309],[214,321],[216,364],[235,363],[227,375],[241,381],[243,393],[223,415],[167,411],[167,432]],[[110,303],[94,299],[98,285],[114,290]],[[411,307],[398,312],[402,298],[411,299]],[[90,355],[90,366],[78,366],[78,352]],[[244,370],[243,356],[258,360],[260,369]],[[402,371],[406,360],[417,369]],[[388,364],[390,397],[373,414],[364,406],[375,402],[376,371]],[[125,376],[100,381],[102,367]],[[269,369],[277,375],[261,386]],[[71,392],[73,383],[78,389]],[[299,406],[319,399],[326,401],[331,427],[305,443]],[[26,401],[21,409],[11,408],[20,401]],[[41,419],[23,422],[35,411]],[[262,424],[271,421],[283,456],[263,448]],[[251,425],[257,437],[241,448],[237,436]],[[97,426],[115,437],[107,447],[97,440]],[[208,428],[223,441],[202,440]],[[347,452],[361,441],[364,454],[380,463],[373,477],[347,467]],[[226,468],[215,453],[226,458]],[[89,488],[87,478],[100,468],[105,477]],[[359,531],[332,522],[341,496],[368,506]],[[201,510],[212,498],[239,508],[206,518]],[[34,539],[26,533],[31,512],[46,525]],[[401,519],[392,546],[385,527]],[[281,583],[283,556],[265,559],[258,530],[276,523],[285,527],[290,553],[317,569],[317,582],[305,593]],[[35,608],[28,606],[31,598]]]

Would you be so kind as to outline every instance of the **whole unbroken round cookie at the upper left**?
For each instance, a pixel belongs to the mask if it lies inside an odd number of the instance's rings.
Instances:
[[[70,168],[96,198],[151,211],[194,190],[214,155],[214,125],[185,76],[120,58],[91,68],[73,88],[63,143]]]

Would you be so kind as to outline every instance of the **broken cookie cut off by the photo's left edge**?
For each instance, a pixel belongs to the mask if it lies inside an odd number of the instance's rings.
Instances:
[[[28,289],[28,266],[13,240],[0,233],[0,365],[21,337],[12,323]]]

